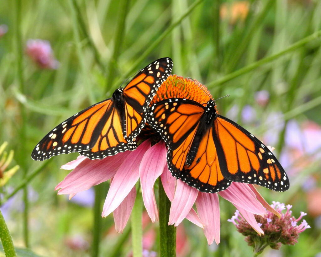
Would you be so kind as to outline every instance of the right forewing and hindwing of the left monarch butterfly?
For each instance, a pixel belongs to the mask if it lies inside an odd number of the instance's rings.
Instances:
[[[144,127],[144,112],[157,89],[170,75],[172,67],[173,62],[170,58],[160,58],[143,68],[126,85],[123,91],[126,112],[124,137],[133,140]]]

